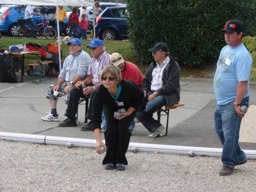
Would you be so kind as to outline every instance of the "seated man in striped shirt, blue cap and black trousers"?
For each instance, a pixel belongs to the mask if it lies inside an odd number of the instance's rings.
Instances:
[[[108,65],[110,65],[110,55],[105,51],[104,43],[100,39],[92,39],[91,43],[87,45],[91,50],[92,60],[89,64],[87,71],[87,78],[84,81],[77,81],[76,87],[72,88],[70,92],[68,108],[66,110],[65,116],[68,118],[59,124],[60,127],[69,127],[76,126],[75,116],[78,108],[78,102],[80,97],[85,98],[89,97],[92,90],[96,89],[101,85],[101,71]],[[83,84],[83,88],[79,87],[79,84]],[[92,100],[92,97],[90,97]],[[90,101],[91,102],[91,101]],[[88,108],[87,118],[90,119],[90,115],[92,114],[92,108]],[[86,124],[84,127],[81,127],[81,131],[89,131],[89,124]]]

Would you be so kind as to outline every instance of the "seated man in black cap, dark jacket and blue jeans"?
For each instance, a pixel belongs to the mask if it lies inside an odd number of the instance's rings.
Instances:
[[[164,126],[152,117],[153,113],[180,101],[180,66],[169,55],[165,43],[156,43],[148,51],[152,52],[155,61],[149,65],[143,80],[141,89],[145,98],[136,118],[151,132],[148,137],[153,138],[164,130]]]

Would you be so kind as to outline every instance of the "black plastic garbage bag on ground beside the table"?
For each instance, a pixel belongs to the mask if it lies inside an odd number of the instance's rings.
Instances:
[[[18,82],[11,54],[0,53],[0,82]]]

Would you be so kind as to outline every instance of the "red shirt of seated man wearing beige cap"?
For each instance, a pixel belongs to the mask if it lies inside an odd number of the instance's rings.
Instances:
[[[122,79],[128,79],[133,81],[136,85],[141,87],[144,76],[140,72],[140,69],[131,62],[125,61],[124,70],[121,71]]]

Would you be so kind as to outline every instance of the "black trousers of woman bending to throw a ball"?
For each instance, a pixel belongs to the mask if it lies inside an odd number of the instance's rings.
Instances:
[[[120,163],[127,165],[125,154],[131,137],[129,126],[137,111],[121,120],[114,118],[115,111],[109,109],[106,105],[103,106],[103,112],[107,122],[107,130],[104,132],[107,151],[102,164],[111,163],[116,166],[117,163]]]

